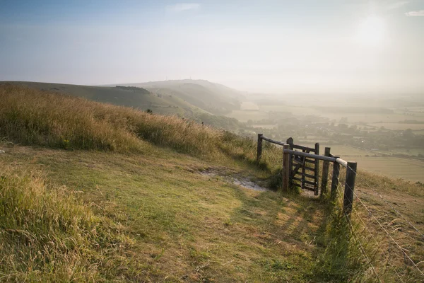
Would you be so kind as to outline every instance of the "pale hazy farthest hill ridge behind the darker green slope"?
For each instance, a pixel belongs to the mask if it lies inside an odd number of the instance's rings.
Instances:
[[[150,81],[148,83],[124,83],[122,86],[138,86],[152,93],[182,98],[198,108],[216,115],[225,115],[240,110],[243,95],[219,83],[205,80]]]

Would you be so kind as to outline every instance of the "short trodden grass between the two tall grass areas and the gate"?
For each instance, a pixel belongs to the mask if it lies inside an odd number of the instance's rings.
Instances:
[[[261,172],[167,149],[151,156],[3,147],[1,166],[47,182],[125,227],[141,282],[308,282],[322,204],[235,185]],[[205,172],[215,172],[207,175]]]

